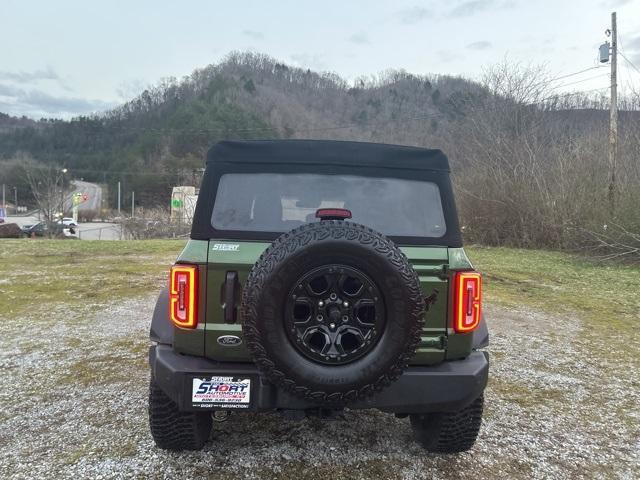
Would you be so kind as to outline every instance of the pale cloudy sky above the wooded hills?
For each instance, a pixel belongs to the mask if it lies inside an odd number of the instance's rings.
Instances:
[[[104,110],[232,50],[350,80],[388,68],[478,78],[505,55],[562,75],[598,64],[612,10],[640,69],[640,0],[0,2],[0,112],[33,118]],[[619,65],[621,87],[638,88],[640,71]],[[607,72],[560,90],[605,88]]]

